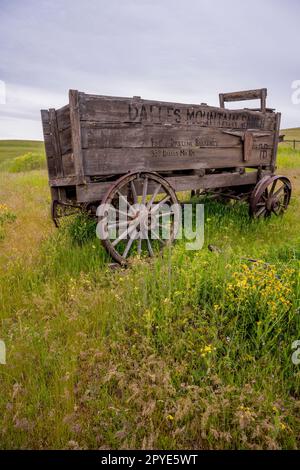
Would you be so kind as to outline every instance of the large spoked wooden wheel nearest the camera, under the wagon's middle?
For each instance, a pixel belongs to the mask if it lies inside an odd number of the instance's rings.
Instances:
[[[154,255],[174,241],[179,205],[169,183],[150,172],[130,173],[109,189],[98,210],[98,236],[118,263],[135,253]]]

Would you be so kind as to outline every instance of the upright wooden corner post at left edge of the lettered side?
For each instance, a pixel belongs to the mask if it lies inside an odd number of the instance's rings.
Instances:
[[[85,183],[83,157],[81,148],[81,126],[79,110],[79,93],[77,90],[69,91],[70,121],[72,129],[72,149],[74,155],[75,172],[79,184]]]

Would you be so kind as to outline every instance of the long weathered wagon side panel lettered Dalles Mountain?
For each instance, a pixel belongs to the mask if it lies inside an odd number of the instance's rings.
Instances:
[[[79,93],[79,102],[88,176],[271,164],[273,113],[84,93]]]

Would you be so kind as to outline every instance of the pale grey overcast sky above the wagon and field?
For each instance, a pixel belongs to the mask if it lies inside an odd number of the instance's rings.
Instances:
[[[0,0],[0,139],[41,139],[70,88],[218,105],[266,87],[299,127],[299,18],[299,0]]]

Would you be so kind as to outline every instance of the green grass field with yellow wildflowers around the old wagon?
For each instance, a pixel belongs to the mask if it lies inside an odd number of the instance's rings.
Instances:
[[[53,227],[45,170],[5,171],[25,152],[0,143],[0,448],[299,449],[299,152],[283,218],[207,202],[202,250],[126,270]]]

